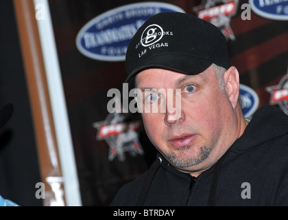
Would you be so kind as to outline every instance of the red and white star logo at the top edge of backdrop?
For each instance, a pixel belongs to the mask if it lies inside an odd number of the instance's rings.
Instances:
[[[238,0],[204,0],[200,6],[193,8],[197,17],[213,23],[226,39],[235,40],[230,27],[230,19],[237,12]]]

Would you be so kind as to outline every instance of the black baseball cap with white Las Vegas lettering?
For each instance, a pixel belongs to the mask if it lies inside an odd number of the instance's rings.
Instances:
[[[163,12],[147,19],[130,41],[125,82],[144,69],[163,68],[195,75],[212,63],[226,69],[231,66],[221,31],[192,14]]]

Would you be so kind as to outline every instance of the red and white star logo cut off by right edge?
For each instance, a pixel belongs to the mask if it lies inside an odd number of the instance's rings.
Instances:
[[[278,85],[267,87],[266,91],[271,94],[269,104],[278,104],[288,114],[288,70]]]

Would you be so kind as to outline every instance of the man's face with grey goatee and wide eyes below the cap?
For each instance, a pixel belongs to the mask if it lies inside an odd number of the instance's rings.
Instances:
[[[178,170],[201,173],[235,141],[237,115],[229,96],[219,87],[213,67],[195,76],[145,69],[137,74],[136,85],[143,91],[138,102],[147,135]],[[167,92],[171,89],[173,97]],[[178,108],[173,113],[171,103]],[[158,106],[158,111],[147,112],[143,104],[151,109]],[[160,111],[163,105],[165,112]]]

